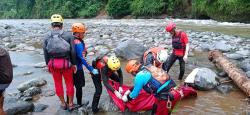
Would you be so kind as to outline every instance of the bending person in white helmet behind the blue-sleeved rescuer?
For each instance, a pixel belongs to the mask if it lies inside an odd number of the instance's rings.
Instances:
[[[144,52],[142,62],[145,66],[152,64],[165,70],[164,65],[167,63],[167,59],[168,52],[166,51],[166,49],[161,47],[153,47]]]

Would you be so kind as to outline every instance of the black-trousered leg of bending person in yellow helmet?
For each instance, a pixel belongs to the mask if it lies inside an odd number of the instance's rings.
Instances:
[[[99,71],[100,72],[100,71]],[[102,83],[101,83],[101,76],[99,75],[92,75],[92,80],[93,83],[95,85],[95,94],[93,96],[93,101],[92,101],[92,111],[98,112],[98,104],[99,104],[99,100],[102,94]]]

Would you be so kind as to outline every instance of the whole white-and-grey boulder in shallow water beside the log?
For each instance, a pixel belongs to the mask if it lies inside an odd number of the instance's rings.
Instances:
[[[195,68],[185,79],[185,83],[192,84],[199,90],[210,90],[217,86],[216,73],[208,68]]]

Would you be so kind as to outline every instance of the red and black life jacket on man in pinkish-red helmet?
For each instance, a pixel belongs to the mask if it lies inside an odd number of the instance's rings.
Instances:
[[[172,37],[172,47],[174,49],[186,49],[185,44],[181,41],[182,31],[179,32],[178,35]]]

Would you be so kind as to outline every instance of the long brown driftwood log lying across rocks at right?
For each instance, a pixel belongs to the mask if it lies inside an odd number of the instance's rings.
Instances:
[[[228,76],[250,97],[250,79],[247,78],[245,72],[237,68],[223,54],[217,50],[210,51],[208,59],[212,61],[218,68],[222,68]]]

